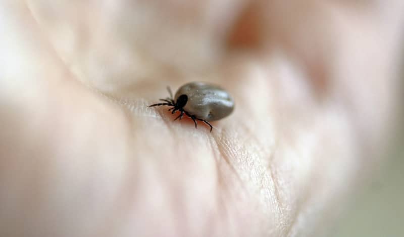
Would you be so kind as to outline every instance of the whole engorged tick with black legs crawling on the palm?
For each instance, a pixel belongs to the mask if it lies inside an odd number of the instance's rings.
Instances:
[[[184,114],[190,117],[197,126],[196,120],[202,121],[210,126],[209,122],[222,119],[234,109],[234,101],[230,94],[221,87],[205,82],[190,82],[181,86],[173,98],[172,92],[167,87],[170,98],[160,99],[165,103],[150,105],[154,106],[171,106],[169,111],[174,114],[179,111],[180,114],[174,120],[182,119]]]

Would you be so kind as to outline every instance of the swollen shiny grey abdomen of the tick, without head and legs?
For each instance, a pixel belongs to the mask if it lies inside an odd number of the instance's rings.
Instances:
[[[209,122],[222,119],[234,110],[234,101],[230,94],[214,84],[187,83],[177,90],[174,101],[177,101],[182,94],[188,97],[184,110],[190,115]]]

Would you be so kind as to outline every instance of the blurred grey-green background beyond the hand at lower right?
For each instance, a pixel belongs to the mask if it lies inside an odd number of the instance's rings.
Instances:
[[[403,60],[404,61],[404,60]],[[402,64],[404,65],[404,63]],[[404,66],[401,91],[404,91]],[[401,94],[404,102],[404,94]],[[404,103],[401,103],[401,105]],[[393,134],[387,162],[358,190],[340,221],[330,229],[332,237],[404,236],[404,109]]]

